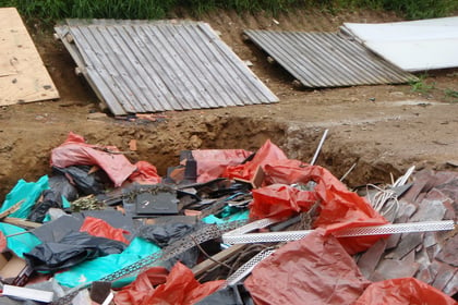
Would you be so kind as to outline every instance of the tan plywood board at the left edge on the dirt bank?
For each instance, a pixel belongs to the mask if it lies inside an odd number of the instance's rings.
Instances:
[[[59,98],[15,8],[0,9],[0,106]]]

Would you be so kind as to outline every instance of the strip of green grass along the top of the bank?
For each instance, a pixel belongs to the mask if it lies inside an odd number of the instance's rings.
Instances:
[[[449,15],[458,10],[457,0],[0,0],[0,7],[16,7],[33,20],[56,23],[77,19],[162,19],[177,8],[197,14],[215,9],[238,12],[266,11],[273,14],[296,8],[318,8],[328,12],[340,9],[385,9],[408,19]]]

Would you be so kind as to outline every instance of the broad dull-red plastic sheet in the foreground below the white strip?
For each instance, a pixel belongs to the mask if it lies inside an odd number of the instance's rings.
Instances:
[[[280,247],[244,282],[256,305],[349,305],[369,284],[336,237],[321,229]]]

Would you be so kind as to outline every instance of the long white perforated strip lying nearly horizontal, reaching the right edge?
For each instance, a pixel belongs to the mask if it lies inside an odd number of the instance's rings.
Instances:
[[[385,235],[414,232],[448,231],[454,230],[453,220],[443,221],[422,221],[408,223],[390,223],[384,225],[351,228],[336,232],[337,237]],[[313,232],[313,230],[282,231],[269,233],[248,233],[234,235],[232,232],[222,234],[222,242],[226,244],[248,244],[248,243],[272,243],[297,241]]]

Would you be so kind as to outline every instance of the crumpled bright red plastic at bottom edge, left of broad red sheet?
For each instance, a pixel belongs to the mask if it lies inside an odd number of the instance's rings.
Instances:
[[[152,277],[149,272],[149,277]],[[167,276],[166,281],[153,289],[154,283],[144,277],[129,288],[122,290],[121,296],[116,298],[116,304],[122,305],[191,305],[217,291],[225,281],[212,281],[201,284],[194,279],[194,273],[181,263],[177,263]],[[137,292],[132,297],[134,289]],[[130,302],[130,303],[129,303]]]

